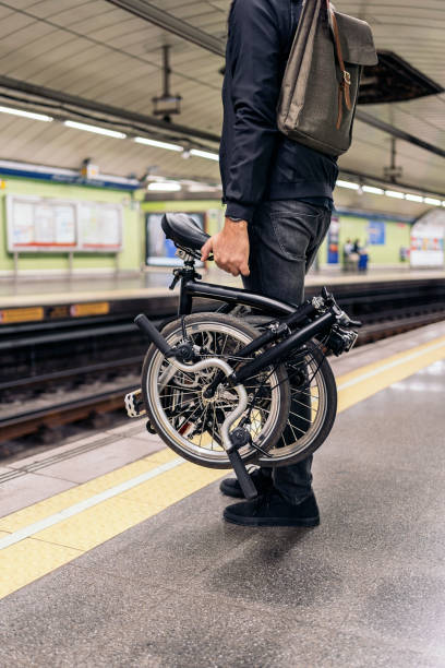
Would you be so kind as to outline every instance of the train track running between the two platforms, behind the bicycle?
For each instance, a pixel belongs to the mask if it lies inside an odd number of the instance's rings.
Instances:
[[[382,314],[383,315],[383,314]],[[368,322],[360,331],[357,345],[364,345],[394,336],[410,330],[424,326],[434,322],[445,320],[445,309],[434,308],[432,312],[420,313],[416,315],[396,317],[390,320],[381,322]],[[134,390],[139,384],[139,370],[143,361],[143,355],[135,355],[118,362],[108,360],[96,365],[85,365],[76,369],[60,370],[51,373],[44,373],[37,377],[15,379],[0,383],[0,391],[8,392],[29,392],[35,389],[47,386],[48,403],[44,406],[32,405],[27,407],[28,402],[24,402],[19,409],[12,414],[0,417],[0,442],[10,441],[20,437],[38,432],[39,430],[49,430],[61,427],[67,424],[76,422],[91,418],[93,415],[121,410],[123,414],[123,396]],[[56,399],[51,402],[51,386],[58,383],[72,382],[82,380],[85,377],[94,374],[109,373],[113,374],[120,371],[122,375],[117,375],[111,382],[112,387],[99,387],[91,392],[86,389],[79,392],[77,396],[72,396],[72,392],[68,392],[67,399]],[[133,373],[131,382],[129,381],[129,372]],[[110,383],[108,383],[110,384]]]

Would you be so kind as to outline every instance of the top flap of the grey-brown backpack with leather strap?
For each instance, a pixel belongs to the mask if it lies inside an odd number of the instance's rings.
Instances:
[[[345,62],[360,65],[378,63],[371,26],[360,19],[335,12]]]

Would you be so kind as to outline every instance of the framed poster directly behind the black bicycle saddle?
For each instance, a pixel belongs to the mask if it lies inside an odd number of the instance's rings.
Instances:
[[[205,229],[205,213],[185,213],[196,220],[201,229]],[[176,255],[175,243],[171,239],[166,239],[160,227],[163,216],[164,213],[147,213],[145,216],[145,264],[148,266],[181,266],[182,260]],[[196,266],[203,266],[203,263],[196,262]]]

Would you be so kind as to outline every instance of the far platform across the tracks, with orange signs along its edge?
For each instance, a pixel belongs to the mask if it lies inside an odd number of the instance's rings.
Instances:
[[[200,270],[203,281],[219,285],[241,286],[241,278],[212,267]],[[81,323],[86,319],[112,322],[127,319],[144,311],[154,318],[171,315],[178,306],[179,290],[170,290],[171,267],[148,270],[140,274],[52,276],[38,278],[23,277],[19,281],[0,281],[0,335],[8,335],[4,325],[57,327],[59,323]],[[419,303],[435,301],[443,309],[445,270],[371,269],[368,273],[350,273],[338,270],[311,271],[305,281],[308,298],[320,294],[326,285],[345,307],[351,302],[370,305],[374,298],[385,294],[408,298],[408,291]],[[411,298],[411,297],[410,297]],[[204,301],[201,302],[204,305]],[[375,303],[374,303],[375,306]],[[385,299],[378,308],[387,310],[394,302]],[[93,321],[91,321],[93,322]],[[425,323],[426,324],[426,323]],[[64,326],[62,324],[62,326]]]

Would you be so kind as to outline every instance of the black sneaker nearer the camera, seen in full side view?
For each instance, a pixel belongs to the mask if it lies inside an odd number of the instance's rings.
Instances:
[[[277,490],[266,492],[253,501],[228,505],[224,511],[226,522],[243,526],[317,526],[318,506],[312,492],[298,505],[288,503]]]

